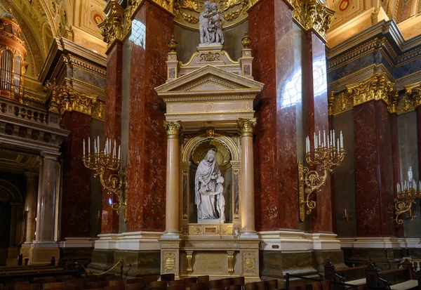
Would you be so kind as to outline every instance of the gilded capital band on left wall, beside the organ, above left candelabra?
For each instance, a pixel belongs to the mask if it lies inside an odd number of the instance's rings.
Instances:
[[[55,79],[52,82],[47,81],[46,87],[51,90],[50,112],[58,112],[62,116],[65,112],[76,111],[92,116],[93,106],[97,103],[96,95],[81,93],[69,85],[57,86]],[[102,110],[105,108],[100,108],[95,114],[103,116]]]

